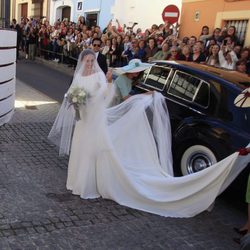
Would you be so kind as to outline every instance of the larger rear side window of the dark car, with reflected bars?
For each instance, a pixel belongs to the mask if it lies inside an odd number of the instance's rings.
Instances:
[[[203,107],[209,103],[209,84],[190,74],[176,71],[168,93]]]

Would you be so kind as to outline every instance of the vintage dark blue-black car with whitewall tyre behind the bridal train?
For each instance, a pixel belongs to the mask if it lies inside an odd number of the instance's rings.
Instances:
[[[190,62],[157,61],[134,88],[166,97],[176,175],[186,175],[225,158],[250,142],[250,108],[234,99],[250,77]]]

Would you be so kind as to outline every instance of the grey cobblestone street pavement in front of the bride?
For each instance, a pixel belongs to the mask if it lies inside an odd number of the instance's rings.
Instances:
[[[220,199],[178,219],[71,195],[68,159],[47,140],[59,105],[20,81],[16,100],[0,127],[0,249],[239,249],[232,228],[245,214]]]

